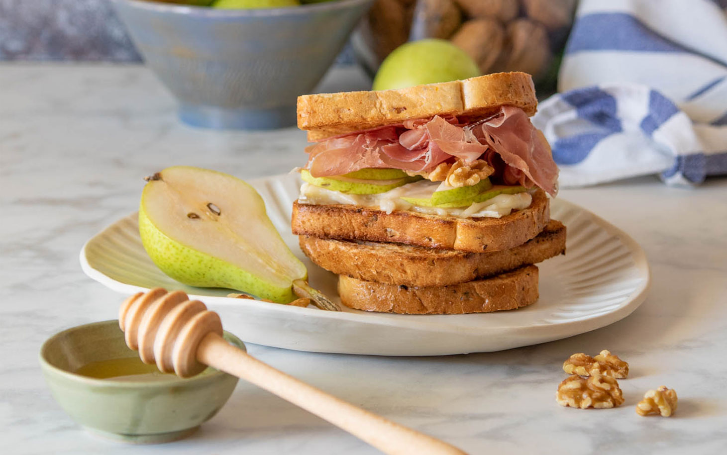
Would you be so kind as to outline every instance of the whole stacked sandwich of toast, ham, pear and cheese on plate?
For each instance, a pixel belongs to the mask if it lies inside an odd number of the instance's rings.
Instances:
[[[531,77],[298,98],[308,161],[292,231],[341,301],[407,314],[514,310],[565,252],[558,167]]]

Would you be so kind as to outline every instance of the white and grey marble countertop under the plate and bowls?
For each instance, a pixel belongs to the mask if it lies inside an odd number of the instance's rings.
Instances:
[[[356,71],[321,89],[366,88]],[[111,319],[121,296],[87,278],[81,245],[136,209],[141,177],[172,164],[252,179],[302,163],[305,134],[214,132],[177,121],[140,66],[0,65],[0,452],[3,454],[374,454],[353,436],[240,382],[191,438],[124,446],[88,435],[52,399],[37,355],[47,337]],[[727,180],[667,188],[642,177],[561,197],[646,250],[651,293],[628,318],[577,337],[499,353],[429,358],[249,351],[278,369],[472,454],[727,453]],[[562,408],[571,353],[630,362],[626,403]],[[634,411],[666,384],[675,416]]]

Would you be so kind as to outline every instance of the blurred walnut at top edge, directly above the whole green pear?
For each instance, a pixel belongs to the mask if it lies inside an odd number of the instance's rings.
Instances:
[[[409,39],[449,38],[460,23],[462,13],[454,0],[418,0]]]

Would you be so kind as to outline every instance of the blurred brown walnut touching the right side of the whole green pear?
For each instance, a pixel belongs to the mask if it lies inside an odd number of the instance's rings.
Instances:
[[[489,73],[505,44],[505,29],[494,19],[473,19],[462,24],[451,42],[467,52],[483,74]]]

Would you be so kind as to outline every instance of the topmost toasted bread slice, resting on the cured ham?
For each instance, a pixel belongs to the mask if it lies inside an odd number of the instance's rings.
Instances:
[[[298,97],[298,128],[308,130],[309,142],[318,142],[413,118],[483,118],[504,105],[532,116],[537,104],[529,74],[494,73],[405,89],[305,94]]]

